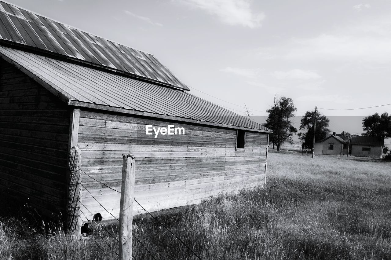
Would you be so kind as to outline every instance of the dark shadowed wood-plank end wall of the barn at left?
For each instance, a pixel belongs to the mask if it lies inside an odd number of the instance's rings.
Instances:
[[[69,110],[0,59],[0,188],[48,215],[63,206]]]

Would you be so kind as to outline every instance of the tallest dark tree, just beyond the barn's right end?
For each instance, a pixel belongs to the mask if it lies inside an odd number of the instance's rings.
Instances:
[[[293,143],[292,135],[297,132],[296,127],[292,126],[291,117],[294,117],[294,112],[297,108],[294,106],[291,98],[281,97],[277,99],[274,96],[274,106],[267,109],[266,112],[269,116],[264,124],[273,130],[273,134],[270,135],[270,142],[277,145],[277,151],[280,151],[282,143]]]

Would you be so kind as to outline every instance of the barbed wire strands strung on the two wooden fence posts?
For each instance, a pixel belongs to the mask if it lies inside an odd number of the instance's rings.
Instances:
[[[69,170],[71,170],[71,169],[69,169]],[[87,176],[88,178],[92,179],[93,181],[95,181],[95,182],[105,186],[106,188],[109,188],[110,190],[113,190],[114,192],[117,192],[118,194],[121,194],[120,191],[116,190],[115,188],[112,188],[112,187],[108,186],[106,183],[104,183],[102,181],[97,180],[96,178],[94,178],[93,176],[91,176],[90,174],[88,174],[87,172],[82,170],[81,168],[79,168],[78,170],[81,173],[83,173],[83,175]],[[95,202],[100,206],[100,208],[102,208],[102,210],[104,210],[109,215],[111,215],[111,217],[115,221],[115,223],[117,223],[117,221],[118,221],[118,224],[119,224],[120,219],[118,219],[118,217],[113,215],[113,213],[111,213],[106,207],[104,207],[102,205],[102,203],[99,202],[99,200],[93,195],[93,193],[90,191],[90,189],[87,188],[86,183],[83,184],[80,181],[80,185],[91,196],[91,198],[93,200],[95,200]],[[173,237],[175,237],[175,239],[179,240],[181,242],[181,244],[183,246],[185,246],[187,248],[187,250],[189,250],[197,259],[201,260],[201,257],[199,255],[197,255],[197,253],[195,253],[194,250],[190,246],[188,246],[188,244],[186,242],[184,242],[178,235],[176,235],[174,232],[172,232],[157,217],[155,217],[147,209],[145,209],[145,207],[140,202],[138,202],[135,199],[135,197],[133,197],[133,201],[135,201],[142,208],[142,210],[145,211],[145,214],[151,216],[151,218],[154,219],[155,222],[157,222],[161,227],[165,228]],[[115,234],[114,229],[112,228],[112,230],[110,232],[108,230],[108,225],[105,222],[102,223],[101,219],[97,219],[97,213],[93,214],[91,212],[91,210],[89,210],[88,207],[83,203],[82,199],[80,199],[79,203],[80,203],[81,206],[83,206],[83,208],[82,207],[79,208],[79,210],[80,210],[79,217],[82,219],[82,221],[84,223],[88,223],[89,224],[87,229],[91,230],[90,233],[92,233],[93,235],[97,235],[97,237],[99,237],[100,240],[102,240],[104,242],[102,244],[99,244],[99,242],[96,242],[95,244],[97,244],[97,246],[102,250],[102,253],[104,253],[104,255],[106,256],[107,259],[110,259],[110,257],[108,255],[108,253],[106,253],[104,245],[106,245],[108,247],[108,249],[111,251],[111,253],[113,254],[113,256],[115,258],[120,257],[120,253],[116,249],[116,247],[118,247],[118,246],[116,246],[116,243],[118,243],[118,244],[120,243],[120,239],[119,239],[119,235],[120,234],[119,234],[119,232],[117,233],[117,236],[114,235]],[[133,204],[131,206],[133,206]],[[86,212],[83,212],[82,209],[85,210]],[[88,219],[88,217],[87,217],[88,214],[90,214],[90,216],[92,216],[92,219]],[[83,228],[82,228],[81,233],[83,233]],[[132,235],[132,234],[130,234],[130,235]],[[145,245],[146,243],[145,243],[145,241],[142,240],[142,238],[139,238],[136,233],[133,233],[133,238],[135,238],[135,240],[145,249],[145,251],[147,251],[147,253],[149,254],[149,256],[151,256],[152,259],[157,260],[156,256],[154,256],[152,254],[151,250],[147,248],[147,246]],[[113,257],[111,257],[111,258],[113,258]],[[135,258],[135,254],[133,252],[132,252],[132,259],[138,260],[138,259]]]

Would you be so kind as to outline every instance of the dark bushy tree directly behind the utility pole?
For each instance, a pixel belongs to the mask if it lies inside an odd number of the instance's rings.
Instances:
[[[315,122],[315,111],[307,111],[300,120],[300,130],[303,133],[298,133],[300,140],[303,142],[301,147],[303,149],[311,149],[314,142],[314,122]],[[330,132],[328,124],[330,120],[325,116],[316,112],[316,131],[315,131],[315,142],[322,140],[326,137],[326,133]]]

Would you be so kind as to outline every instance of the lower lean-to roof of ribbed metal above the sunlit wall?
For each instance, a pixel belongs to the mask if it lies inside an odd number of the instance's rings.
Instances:
[[[139,81],[123,75],[60,61],[0,46],[0,56],[23,69],[40,83],[61,96],[68,104],[93,104],[94,108],[118,108],[124,113],[142,112],[145,116],[172,116],[172,120],[185,118],[200,124],[213,123],[231,128],[248,128],[253,131],[271,130],[228,109],[190,94]],[[76,102],[76,103],[75,103]],[[79,102],[79,103],[77,103]],[[81,104],[80,102],[83,102]]]

